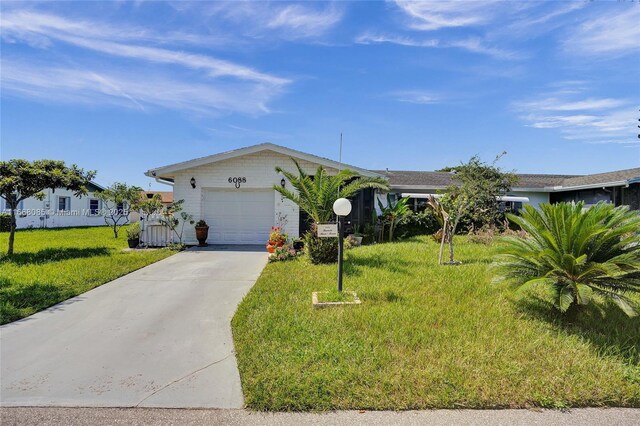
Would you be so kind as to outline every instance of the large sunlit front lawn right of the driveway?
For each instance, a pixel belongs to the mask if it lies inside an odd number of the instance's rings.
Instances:
[[[347,252],[362,305],[314,310],[336,266],[269,264],[232,322],[256,410],[640,406],[640,318],[560,318],[543,291],[491,284],[494,246],[429,238]]]

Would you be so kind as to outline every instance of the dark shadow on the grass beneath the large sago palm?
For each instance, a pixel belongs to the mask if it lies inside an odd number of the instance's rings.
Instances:
[[[530,317],[591,342],[602,355],[620,356],[631,366],[640,363],[640,317],[627,317],[612,302],[592,302],[565,314],[540,296],[523,298],[516,303],[518,309]]]

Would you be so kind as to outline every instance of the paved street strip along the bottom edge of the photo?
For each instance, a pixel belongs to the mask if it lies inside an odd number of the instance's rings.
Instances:
[[[4,408],[9,425],[256,425],[256,426],[418,426],[418,425],[579,425],[640,424],[640,410],[579,408],[555,410],[338,411],[330,413],[256,413],[246,410],[162,410],[117,408]]]

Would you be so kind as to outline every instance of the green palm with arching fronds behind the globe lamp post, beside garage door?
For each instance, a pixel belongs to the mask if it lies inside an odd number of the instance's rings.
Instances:
[[[362,177],[358,173],[345,169],[336,175],[329,175],[322,167],[318,167],[314,176],[308,175],[296,160],[293,160],[298,173],[292,173],[276,167],[276,171],[284,175],[291,183],[294,191],[274,185],[273,189],[283,197],[296,203],[315,223],[324,223],[333,216],[333,202],[338,198],[349,198],[362,189],[376,188],[389,190],[389,184],[383,178]]]

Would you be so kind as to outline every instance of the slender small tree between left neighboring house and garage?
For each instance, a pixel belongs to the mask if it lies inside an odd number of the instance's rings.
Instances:
[[[120,228],[129,223],[129,213],[140,203],[142,188],[116,182],[104,191],[96,192],[102,201],[102,215],[107,225],[113,229],[113,236],[118,238]]]

